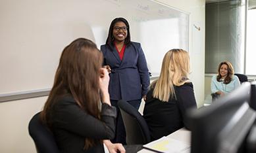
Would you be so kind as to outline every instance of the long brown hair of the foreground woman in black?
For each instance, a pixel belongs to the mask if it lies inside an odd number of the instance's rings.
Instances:
[[[68,94],[72,95],[81,109],[99,118],[99,69],[102,62],[102,53],[88,39],[76,39],[64,48],[53,88],[41,112],[43,123],[51,129],[51,108],[59,97]],[[95,140],[86,138],[84,148],[87,149],[95,143]]]

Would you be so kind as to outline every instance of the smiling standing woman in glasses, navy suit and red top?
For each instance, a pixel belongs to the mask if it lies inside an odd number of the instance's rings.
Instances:
[[[115,18],[109,27],[106,44],[101,46],[104,63],[109,69],[109,94],[111,105],[117,108],[117,101],[124,99],[139,109],[141,98],[145,98],[149,86],[147,62],[138,42],[130,41],[130,27],[126,19]],[[116,138],[126,144],[126,134],[122,116],[118,110]]]

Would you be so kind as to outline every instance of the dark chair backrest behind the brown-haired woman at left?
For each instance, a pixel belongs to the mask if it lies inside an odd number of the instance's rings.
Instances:
[[[39,119],[39,114],[35,114],[28,125],[30,136],[36,144],[39,153],[57,153],[59,148],[55,142],[53,133],[43,125]]]

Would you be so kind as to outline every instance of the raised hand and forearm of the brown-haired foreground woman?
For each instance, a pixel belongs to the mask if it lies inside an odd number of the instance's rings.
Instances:
[[[99,69],[99,89],[101,90],[101,101],[111,105],[109,98],[109,73],[107,69]]]

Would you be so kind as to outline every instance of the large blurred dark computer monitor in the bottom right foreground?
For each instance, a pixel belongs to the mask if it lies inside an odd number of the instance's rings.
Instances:
[[[251,84],[246,82],[210,105],[188,112],[192,153],[239,152],[256,114],[249,108]]]

